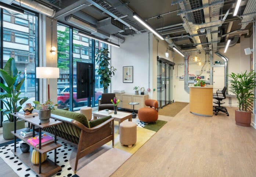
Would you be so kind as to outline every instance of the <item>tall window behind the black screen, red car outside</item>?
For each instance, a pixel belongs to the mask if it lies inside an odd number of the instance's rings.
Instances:
[[[72,32],[73,31],[73,32]],[[95,53],[99,48],[106,47],[104,43],[78,34],[72,27],[58,24],[58,67],[60,68],[60,79],[58,79],[57,100],[58,108],[70,108],[77,110],[82,106],[97,106],[98,98],[101,97],[103,87],[97,75],[97,63],[95,64]],[[70,36],[72,35],[72,36]],[[72,39],[72,40],[70,40]],[[72,46],[72,49],[70,49]],[[70,54],[72,50],[72,54]],[[94,64],[94,94],[88,98],[77,99],[77,62]],[[70,70],[70,67],[72,69]],[[73,72],[70,74],[70,72]],[[70,89],[73,87],[73,90]]]

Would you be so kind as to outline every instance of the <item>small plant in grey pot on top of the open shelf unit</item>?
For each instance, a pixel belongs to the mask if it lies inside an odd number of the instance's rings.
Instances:
[[[40,103],[39,101],[33,101],[33,103],[36,104],[36,109],[39,110],[40,123],[45,124],[50,122],[51,110],[55,109],[54,106],[58,106],[58,104],[54,104],[50,99],[44,103]]]

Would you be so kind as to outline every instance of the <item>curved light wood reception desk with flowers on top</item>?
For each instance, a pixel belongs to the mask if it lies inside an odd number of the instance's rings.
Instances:
[[[212,93],[212,86],[190,86],[190,112],[199,116],[212,116]]]

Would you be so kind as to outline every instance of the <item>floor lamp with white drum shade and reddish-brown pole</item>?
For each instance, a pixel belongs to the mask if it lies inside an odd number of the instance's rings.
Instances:
[[[48,79],[48,99],[50,99],[49,79],[60,78],[60,69],[55,67],[36,67],[36,78]]]

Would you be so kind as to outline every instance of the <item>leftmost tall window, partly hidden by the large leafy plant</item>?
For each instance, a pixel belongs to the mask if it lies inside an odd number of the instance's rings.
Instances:
[[[29,97],[26,103],[32,103],[36,99],[37,14],[30,12],[15,14],[13,11],[3,9],[3,13],[0,15],[3,16],[3,27],[1,27],[3,36],[0,38],[3,42],[0,51],[3,56],[1,57],[3,62],[1,67],[4,67],[11,57],[15,59],[18,72],[21,71],[20,79],[25,78],[20,97]],[[3,107],[3,109],[5,108]],[[1,115],[1,125],[5,120],[7,118]]]

